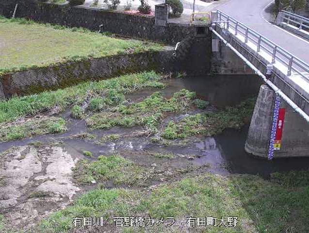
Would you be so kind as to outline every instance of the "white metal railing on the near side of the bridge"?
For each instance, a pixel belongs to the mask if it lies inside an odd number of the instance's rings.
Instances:
[[[305,80],[309,81],[309,65],[288,51],[282,49],[271,40],[265,38],[261,34],[248,28],[243,23],[237,21],[233,17],[228,16],[222,11],[217,10],[217,22],[225,30],[234,35],[242,35],[244,43],[252,43],[256,47],[256,51],[265,52],[271,57],[271,63],[279,62],[286,67],[286,75],[298,74]]]

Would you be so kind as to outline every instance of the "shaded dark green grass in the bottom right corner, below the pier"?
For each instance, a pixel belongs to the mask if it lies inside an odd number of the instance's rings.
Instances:
[[[291,184],[287,181],[291,174],[297,181],[296,186],[286,185]],[[307,182],[298,181],[308,177],[309,172],[292,171],[272,176],[276,179],[269,182],[257,176],[234,175],[229,180],[229,187],[233,196],[242,200],[258,232],[307,232],[309,222],[305,219],[309,217],[309,186]]]

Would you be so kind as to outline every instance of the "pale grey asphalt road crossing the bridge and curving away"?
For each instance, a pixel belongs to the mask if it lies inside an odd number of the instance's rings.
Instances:
[[[217,9],[246,24],[267,39],[309,64],[309,41],[269,23],[264,10],[272,0],[229,0]]]

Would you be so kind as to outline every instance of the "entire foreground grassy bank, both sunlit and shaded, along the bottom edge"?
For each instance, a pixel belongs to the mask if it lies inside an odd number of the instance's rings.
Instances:
[[[107,229],[114,227],[113,216],[150,216],[155,219],[173,216],[176,219],[172,226],[117,229],[131,233],[186,232],[189,230],[187,217],[203,216],[218,219],[237,216],[238,223],[235,228],[190,227],[191,232],[304,233],[309,228],[309,186],[286,187],[253,175],[222,177],[205,174],[163,184],[150,193],[98,189],[82,195],[72,206],[43,220],[40,229],[48,233],[66,232],[73,228],[71,218],[76,216],[103,216],[107,219]],[[219,224],[220,220],[217,221]]]

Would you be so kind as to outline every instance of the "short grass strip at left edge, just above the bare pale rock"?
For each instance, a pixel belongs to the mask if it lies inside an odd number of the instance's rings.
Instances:
[[[65,132],[65,120],[59,117],[43,116],[33,119],[19,119],[0,124],[0,141],[17,140],[46,133]]]

